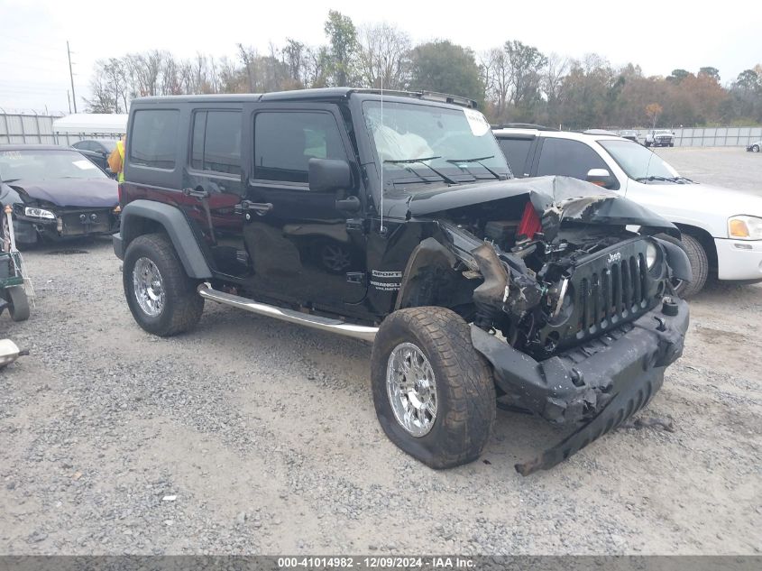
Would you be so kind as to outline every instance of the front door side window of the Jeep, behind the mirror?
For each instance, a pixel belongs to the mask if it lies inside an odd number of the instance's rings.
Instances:
[[[308,161],[346,160],[334,115],[264,111],[254,117],[254,178],[308,182]]]

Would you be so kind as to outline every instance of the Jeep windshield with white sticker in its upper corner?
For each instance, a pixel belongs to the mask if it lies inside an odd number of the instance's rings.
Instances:
[[[384,102],[363,104],[365,123],[395,183],[495,180],[510,169],[484,115],[473,109]]]

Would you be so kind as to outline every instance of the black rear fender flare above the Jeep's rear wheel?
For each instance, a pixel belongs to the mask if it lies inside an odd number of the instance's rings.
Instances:
[[[193,235],[185,215],[178,207],[162,202],[133,200],[122,209],[118,240],[122,243],[123,252],[130,242],[142,234],[140,232],[141,219],[151,220],[164,228],[167,235],[170,236],[175,252],[178,253],[188,277],[197,280],[206,280],[212,277],[204,253],[201,252],[196,236]],[[116,241],[115,236],[115,244]]]

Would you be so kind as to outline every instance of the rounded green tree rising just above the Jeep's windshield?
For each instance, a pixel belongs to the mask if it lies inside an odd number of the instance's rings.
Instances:
[[[447,40],[422,43],[410,52],[410,87],[482,103],[483,85],[473,51]]]

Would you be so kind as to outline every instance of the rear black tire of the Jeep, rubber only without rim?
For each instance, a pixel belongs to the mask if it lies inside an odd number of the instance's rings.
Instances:
[[[145,313],[135,298],[133,270],[135,262],[148,258],[161,272],[165,291],[165,303],[158,316]],[[204,310],[204,299],[197,294],[197,281],[188,274],[179,261],[178,254],[163,234],[145,234],[135,238],[124,253],[122,269],[124,297],[138,325],[158,336],[173,336],[194,327]]]

